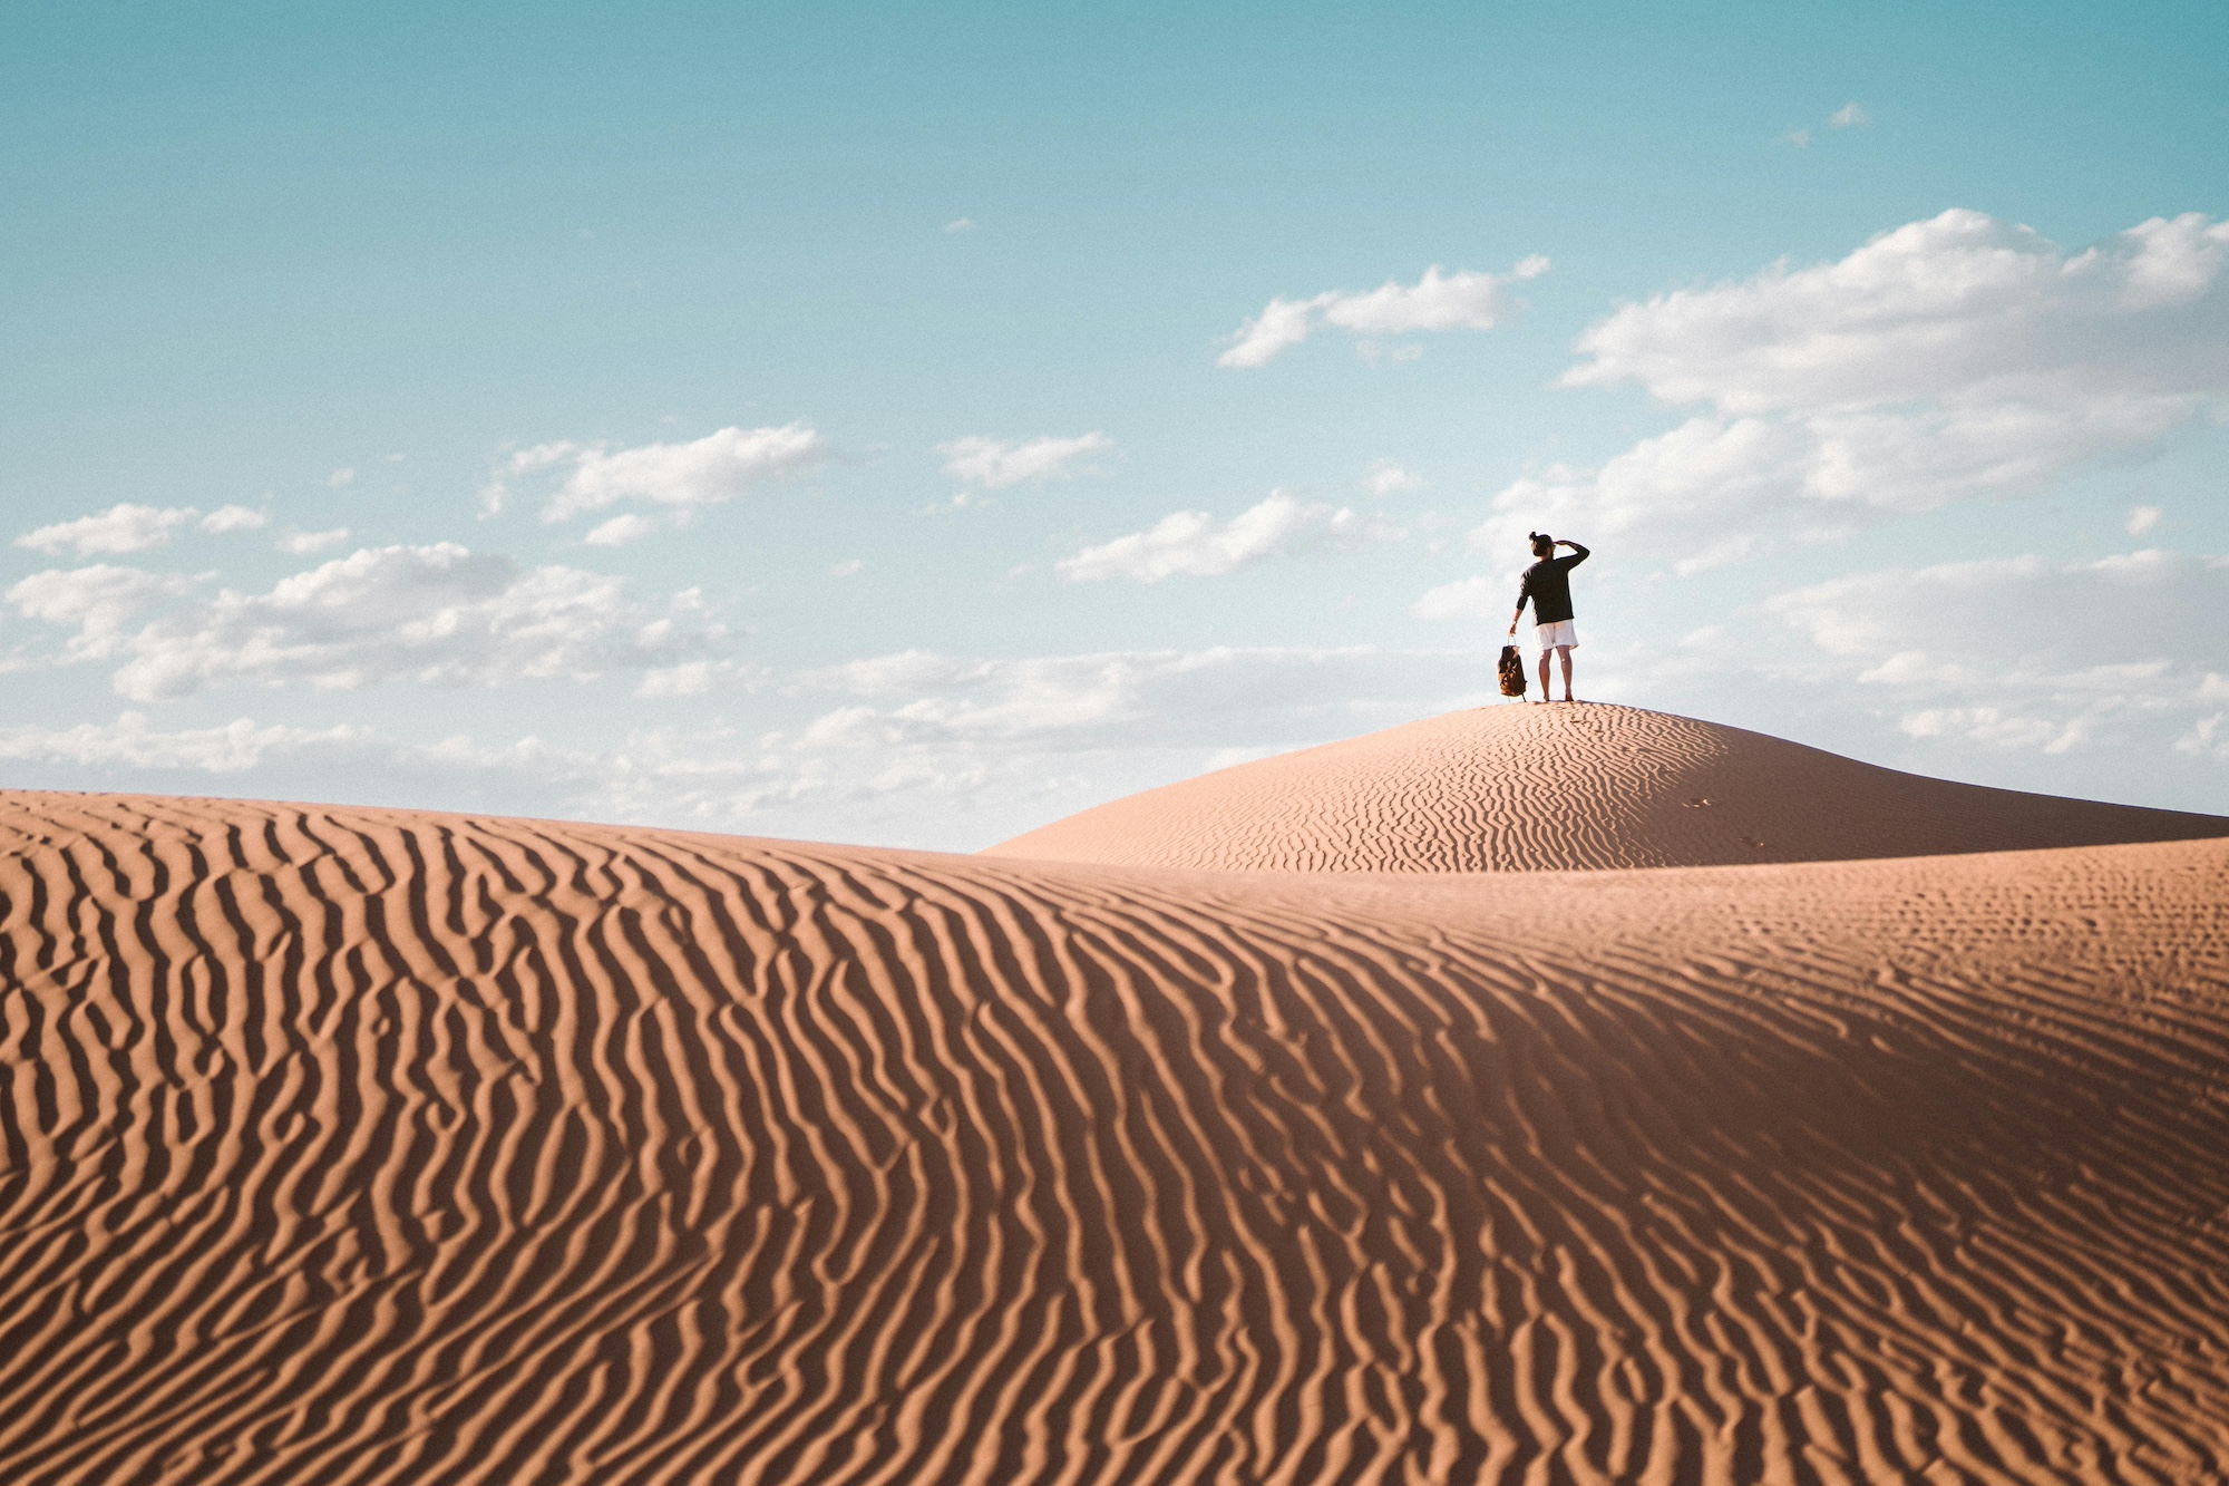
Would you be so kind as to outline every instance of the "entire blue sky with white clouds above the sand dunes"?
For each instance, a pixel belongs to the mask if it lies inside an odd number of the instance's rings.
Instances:
[[[0,0],[0,785],[976,850],[1505,705],[1547,529],[1585,698],[2229,812],[2225,56]]]

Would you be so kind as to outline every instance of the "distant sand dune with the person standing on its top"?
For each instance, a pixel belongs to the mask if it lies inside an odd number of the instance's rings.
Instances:
[[[1491,872],[2193,837],[2229,837],[2229,819],[1899,774],[1667,712],[1509,703],[1132,794],[990,855],[1266,872]]]

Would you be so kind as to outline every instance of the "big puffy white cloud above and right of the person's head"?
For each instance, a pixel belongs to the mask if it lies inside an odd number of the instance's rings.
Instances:
[[[1839,263],[1625,306],[1560,384],[1705,411],[1598,469],[1513,482],[1476,540],[1629,531],[1692,571],[1743,542],[2044,489],[2229,411],[2225,263],[2229,223],[2196,214],[2066,254],[1944,212]]]

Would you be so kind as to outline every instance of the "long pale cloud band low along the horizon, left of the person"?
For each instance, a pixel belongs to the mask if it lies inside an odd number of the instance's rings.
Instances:
[[[0,730],[0,759],[82,788],[172,788],[640,821],[972,850],[1099,803],[1268,752],[1485,701],[1471,652],[1206,649],[967,658],[907,652],[791,676],[689,660],[642,696],[744,687],[791,716],[765,732],[655,727],[606,743],[448,739],[372,727],[163,732],[138,714]],[[771,692],[771,694],[769,694]],[[42,765],[38,776],[31,765]]]

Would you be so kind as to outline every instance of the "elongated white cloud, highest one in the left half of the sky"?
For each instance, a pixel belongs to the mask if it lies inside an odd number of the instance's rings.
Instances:
[[[687,511],[713,506],[807,471],[827,460],[827,440],[805,424],[720,428],[687,444],[642,444],[617,451],[604,444],[559,440],[513,453],[497,466],[479,498],[488,513],[502,511],[515,482],[571,466],[571,473],[544,502],[542,520],[562,522],[624,500]]]

